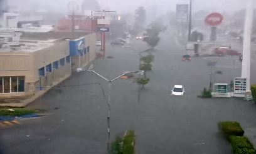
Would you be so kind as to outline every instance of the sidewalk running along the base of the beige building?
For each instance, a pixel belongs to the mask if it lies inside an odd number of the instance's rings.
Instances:
[[[60,84],[64,80],[68,79],[71,75],[66,75],[59,82],[53,83],[53,85],[47,87],[45,90],[36,92],[35,95],[26,95],[21,97],[3,97],[0,99],[0,107],[26,107],[29,103],[35,101],[39,97],[43,96],[50,89]]]

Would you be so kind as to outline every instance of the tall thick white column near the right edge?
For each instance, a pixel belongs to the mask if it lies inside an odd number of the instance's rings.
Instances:
[[[246,91],[250,91],[250,43],[252,34],[253,1],[247,0],[245,26],[243,30],[243,62],[241,77],[247,79]]]

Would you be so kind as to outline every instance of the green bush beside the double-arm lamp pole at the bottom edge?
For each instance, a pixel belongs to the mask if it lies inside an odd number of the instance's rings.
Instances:
[[[112,154],[134,154],[135,146],[135,133],[133,130],[128,130],[125,133],[124,138],[117,137],[114,142],[111,143]]]

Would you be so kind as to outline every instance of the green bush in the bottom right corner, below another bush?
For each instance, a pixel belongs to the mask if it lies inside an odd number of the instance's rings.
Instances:
[[[235,154],[255,154],[256,150],[247,137],[231,136],[230,142]]]

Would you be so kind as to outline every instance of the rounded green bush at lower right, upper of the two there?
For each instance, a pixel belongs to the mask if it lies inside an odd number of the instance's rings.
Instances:
[[[243,136],[243,128],[238,122],[219,122],[218,127],[220,132],[229,139],[230,136]]]

